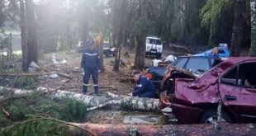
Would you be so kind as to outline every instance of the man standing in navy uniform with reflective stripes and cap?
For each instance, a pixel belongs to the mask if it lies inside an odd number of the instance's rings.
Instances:
[[[94,84],[94,92],[99,96],[98,92],[98,73],[102,70],[102,63],[98,53],[98,50],[94,46],[94,41],[88,41],[88,48],[83,50],[83,56],[81,61],[81,69],[83,70],[83,94],[87,93],[88,82],[92,75]]]

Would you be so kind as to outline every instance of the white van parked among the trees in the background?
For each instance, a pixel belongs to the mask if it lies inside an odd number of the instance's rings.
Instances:
[[[147,55],[155,55],[157,59],[161,59],[161,55],[163,52],[163,44],[161,39],[158,37],[147,37],[146,38],[146,56]]]

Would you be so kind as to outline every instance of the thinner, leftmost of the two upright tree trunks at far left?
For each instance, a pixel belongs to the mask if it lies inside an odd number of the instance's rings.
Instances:
[[[20,27],[21,27],[21,50],[22,50],[22,70],[27,72],[29,67],[28,62],[28,47],[26,45],[26,18],[24,0],[20,0]]]

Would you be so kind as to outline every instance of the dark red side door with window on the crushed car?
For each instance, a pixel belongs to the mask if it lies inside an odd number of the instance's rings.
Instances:
[[[220,77],[224,105],[240,122],[256,122],[256,63],[240,63]]]

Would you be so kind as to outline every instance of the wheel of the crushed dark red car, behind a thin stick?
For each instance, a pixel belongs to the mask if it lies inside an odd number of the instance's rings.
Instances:
[[[199,123],[201,124],[212,124],[218,118],[217,110],[206,110],[199,119]],[[232,123],[230,116],[225,113],[225,111],[221,111],[221,122]]]

